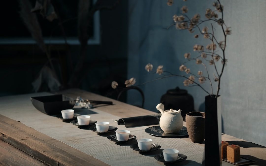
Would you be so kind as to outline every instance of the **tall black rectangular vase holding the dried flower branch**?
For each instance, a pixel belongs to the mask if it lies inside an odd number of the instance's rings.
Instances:
[[[202,165],[221,165],[221,97],[205,97],[205,154]]]

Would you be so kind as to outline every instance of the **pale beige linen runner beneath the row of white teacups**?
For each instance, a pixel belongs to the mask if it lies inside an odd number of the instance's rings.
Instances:
[[[30,97],[45,95],[51,95],[51,93],[0,97],[0,114],[20,121],[109,165],[164,165],[164,163],[154,159],[154,155],[158,153],[156,151],[140,154],[130,148],[130,143],[121,144],[122,146],[120,146],[108,140],[106,136],[100,136],[90,130],[79,129],[77,126],[63,122],[56,117],[41,113],[31,104]],[[116,126],[118,129],[130,130],[130,134],[136,135],[137,139],[151,138],[153,143],[161,145],[161,149],[178,149],[181,154],[187,156],[186,161],[178,163],[178,165],[201,165],[204,147],[179,138],[153,137],[144,131],[147,126],[126,128],[124,125],[118,125],[113,121],[120,117],[99,109],[101,108],[77,109],[78,111],[75,112],[87,113],[92,120],[98,122],[108,121],[111,126]]]

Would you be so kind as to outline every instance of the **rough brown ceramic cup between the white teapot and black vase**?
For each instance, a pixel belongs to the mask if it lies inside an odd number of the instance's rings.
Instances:
[[[187,113],[186,129],[192,142],[203,142],[205,139],[205,112]]]

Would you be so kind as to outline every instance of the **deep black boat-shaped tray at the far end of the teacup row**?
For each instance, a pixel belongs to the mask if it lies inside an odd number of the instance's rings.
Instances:
[[[64,95],[39,96],[30,99],[36,109],[47,115],[61,114],[61,110],[72,109],[76,102]]]

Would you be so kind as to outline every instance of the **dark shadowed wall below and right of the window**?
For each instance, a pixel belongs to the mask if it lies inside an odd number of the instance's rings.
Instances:
[[[9,26],[8,22],[5,26]],[[76,86],[112,96],[111,81],[125,80],[127,75],[127,1],[120,1],[114,9],[100,11],[100,32],[100,44],[88,45],[85,67]],[[80,45],[49,46],[60,83],[64,85],[61,88],[66,88]],[[0,96],[34,92],[31,83],[47,63],[47,56],[37,45],[0,45]],[[39,91],[49,91],[47,83]]]

